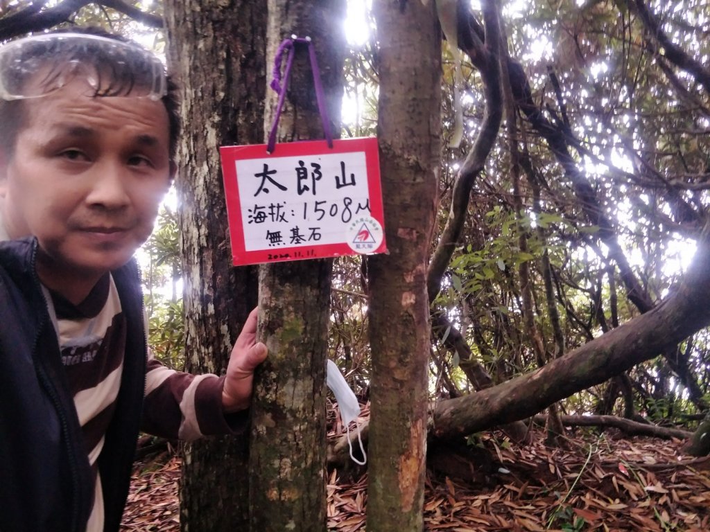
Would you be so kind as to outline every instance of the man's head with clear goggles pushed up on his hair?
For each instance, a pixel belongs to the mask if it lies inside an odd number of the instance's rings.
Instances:
[[[162,64],[135,45],[71,33],[17,43],[0,47],[1,214],[11,238],[38,238],[40,279],[80,301],[150,235],[174,172],[177,104]]]

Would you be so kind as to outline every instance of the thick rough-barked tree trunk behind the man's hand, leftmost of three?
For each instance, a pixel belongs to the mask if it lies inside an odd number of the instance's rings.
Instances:
[[[263,138],[266,0],[167,0],[170,70],[182,86],[185,131],[176,184],[190,372],[226,370],[231,345],[256,306],[256,267],[231,266],[220,145]],[[235,9],[239,16],[234,16]],[[187,445],[182,531],[233,531],[248,523],[246,435]]]

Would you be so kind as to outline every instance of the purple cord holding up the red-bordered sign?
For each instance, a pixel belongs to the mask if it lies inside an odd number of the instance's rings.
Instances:
[[[293,66],[293,57],[295,55],[295,43],[305,44],[308,46],[308,57],[310,59],[311,70],[313,72],[313,85],[315,87],[315,98],[318,103],[318,112],[323,123],[323,133],[328,143],[328,148],[333,147],[333,137],[330,131],[330,121],[328,119],[328,110],[325,106],[325,94],[320,81],[320,70],[318,69],[318,61],[315,56],[315,48],[310,38],[290,38],[284,39],[276,51],[276,57],[273,62],[273,80],[271,88],[278,94],[278,105],[276,106],[276,114],[273,117],[271,124],[271,133],[268,135],[268,144],[266,145],[266,153],[273,153],[276,148],[276,129],[278,121],[281,118],[283,110],[283,102],[288,91],[288,80],[291,75],[291,67]],[[286,62],[286,70],[283,73],[283,87],[281,86],[281,62],[283,62],[283,54],[288,51],[288,61]]]

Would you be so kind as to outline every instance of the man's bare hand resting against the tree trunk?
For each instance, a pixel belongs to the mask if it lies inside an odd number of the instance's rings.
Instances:
[[[231,350],[222,390],[222,406],[227,413],[249,408],[254,368],[266,360],[266,345],[256,341],[257,314],[258,309],[251,311]]]

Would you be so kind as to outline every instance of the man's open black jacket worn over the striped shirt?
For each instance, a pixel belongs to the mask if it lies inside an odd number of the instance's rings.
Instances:
[[[94,489],[32,238],[0,242],[0,532],[84,532]],[[143,298],[134,261],[112,272],[126,316],[116,411],[99,456],[104,531],[119,530],[146,376]]]

